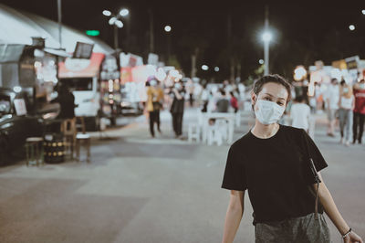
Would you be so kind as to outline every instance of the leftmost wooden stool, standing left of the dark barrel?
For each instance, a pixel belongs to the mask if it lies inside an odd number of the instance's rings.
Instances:
[[[29,164],[36,166],[44,164],[43,162],[43,138],[30,137],[26,139],[26,166]]]

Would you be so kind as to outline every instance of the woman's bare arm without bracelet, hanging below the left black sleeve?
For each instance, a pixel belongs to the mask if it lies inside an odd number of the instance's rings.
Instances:
[[[245,191],[231,191],[229,206],[225,215],[223,243],[234,242],[235,233],[244,214]]]

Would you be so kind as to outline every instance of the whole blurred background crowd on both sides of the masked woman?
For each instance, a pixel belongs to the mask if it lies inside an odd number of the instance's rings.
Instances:
[[[180,80],[171,87],[163,87],[156,79],[146,83],[147,101],[145,113],[150,121],[151,136],[154,127],[162,133],[160,111],[169,109],[172,129],[176,138],[183,136],[183,112],[185,106],[198,108],[201,112],[232,112],[250,110],[250,96],[243,83],[224,80],[223,83],[199,83],[192,79]],[[306,82],[293,83],[292,101],[280,123],[307,131],[314,136],[314,114],[327,113],[328,136],[335,137],[339,131],[339,143],[349,146],[362,143],[365,122],[365,80],[354,85],[345,80],[332,79],[324,89],[316,83],[312,96],[308,96]],[[209,124],[214,124],[210,121]]]

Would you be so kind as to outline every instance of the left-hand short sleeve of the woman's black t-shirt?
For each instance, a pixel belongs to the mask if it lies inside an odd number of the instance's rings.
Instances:
[[[225,164],[222,188],[235,191],[245,191],[245,168],[241,156],[233,147],[229,149]]]

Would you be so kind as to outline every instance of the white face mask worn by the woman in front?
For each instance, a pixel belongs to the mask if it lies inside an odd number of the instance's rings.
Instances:
[[[257,100],[256,106],[258,109],[255,110],[255,116],[264,125],[279,121],[285,111],[285,106],[279,106],[268,100]]]

